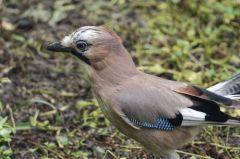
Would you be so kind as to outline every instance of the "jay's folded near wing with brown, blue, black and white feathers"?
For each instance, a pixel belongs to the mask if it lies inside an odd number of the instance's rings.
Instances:
[[[240,124],[220,110],[218,103],[230,105],[230,99],[184,83],[136,78],[114,96],[124,120],[136,127],[172,130],[177,126]]]

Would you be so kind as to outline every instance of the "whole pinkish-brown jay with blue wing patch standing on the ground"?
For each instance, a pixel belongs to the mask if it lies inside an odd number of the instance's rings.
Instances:
[[[80,59],[105,117],[157,157],[180,158],[176,150],[203,126],[240,126],[221,109],[240,108],[240,74],[204,89],[144,73],[106,26],[80,27],[45,48]]]

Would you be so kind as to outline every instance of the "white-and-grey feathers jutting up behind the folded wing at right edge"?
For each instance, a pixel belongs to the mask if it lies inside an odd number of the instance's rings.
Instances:
[[[240,73],[233,76],[229,80],[209,87],[207,90],[230,98],[233,100],[233,102],[240,100]],[[239,102],[236,102],[235,106],[240,108]]]

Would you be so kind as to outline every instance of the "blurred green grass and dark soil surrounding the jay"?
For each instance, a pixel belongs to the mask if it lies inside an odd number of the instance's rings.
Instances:
[[[206,88],[240,72],[239,0],[0,0],[1,159],[154,158],[104,118],[76,58],[43,49],[85,25],[157,76]],[[240,128],[204,128],[179,153],[239,159]]]

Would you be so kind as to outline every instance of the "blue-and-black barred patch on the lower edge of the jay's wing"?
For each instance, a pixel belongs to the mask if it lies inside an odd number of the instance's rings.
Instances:
[[[174,126],[168,119],[160,117],[154,123],[141,122],[133,118],[130,118],[129,120],[136,126],[143,128],[160,129],[164,131],[172,131],[176,128],[176,126]]]

